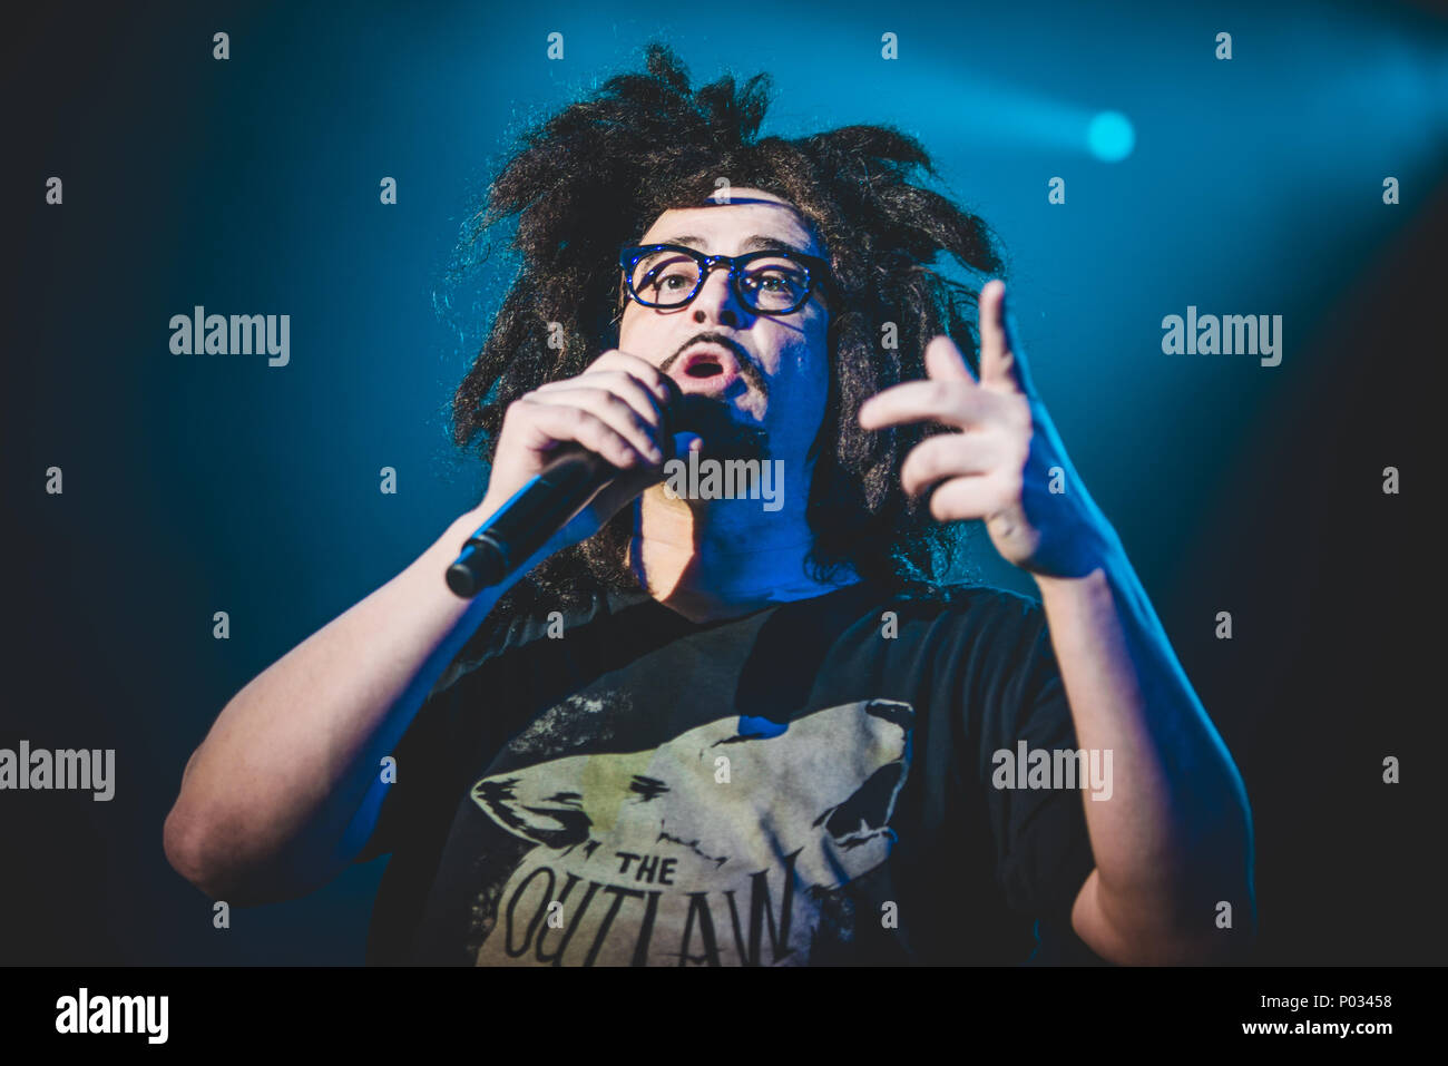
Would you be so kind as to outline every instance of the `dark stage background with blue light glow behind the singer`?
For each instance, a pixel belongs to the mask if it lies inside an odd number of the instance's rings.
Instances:
[[[585,4],[12,16],[0,747],[113,747],[117,784],[110,802],[0,792],[0,962],[361,962],[385,859],[214,930],[161,826],[226,701],[479,498],[443,414],[507,261],[450,278],[459,226],[524,119],[640,68],[654,38],[695,84],[769,71],[766,135],[919,136],[999,233],[1037,387],[1247,781],[1261,960],[1445,960],[1429,437],[1448,20],[1428,4],[769,10],[752,33],[712,9]],[[562,62],[544,59],[553,30]],[[1135,127],[1119,162],[1085,138],[1100,110]],[[378,203],[384,175],[397,206]],[[1053,175],[1064,206],[1047,204]],[[168,320],[195,304],[291,314],[291,364],[172,355]],[[1283,314],[1281,365],[1163,355],[1161,317],[1187,304]],[[43,490],[51,465],[64,495]],[[397,495],[378,491],[388,465]],[[1381,491],[1389,465],[1400,495]],[[211,637],[216,610],[230,640]]]

